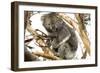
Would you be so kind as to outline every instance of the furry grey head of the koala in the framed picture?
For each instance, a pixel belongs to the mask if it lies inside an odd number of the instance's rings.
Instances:
[[[43,21],[43,26],[48,32],[54,32],[56,31],[56,23],[60,21],[60,19],[57,17],[57,13],[52,12],[49,14],[45,14],[41,17]]]

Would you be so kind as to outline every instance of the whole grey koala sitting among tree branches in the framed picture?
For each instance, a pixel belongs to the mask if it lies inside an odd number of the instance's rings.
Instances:
[[[62,59],[73,59],[78,48],[75,30],[59,18],[56,12],[41,18],[50,38],[47,44],[53,48],[55,55]]]

